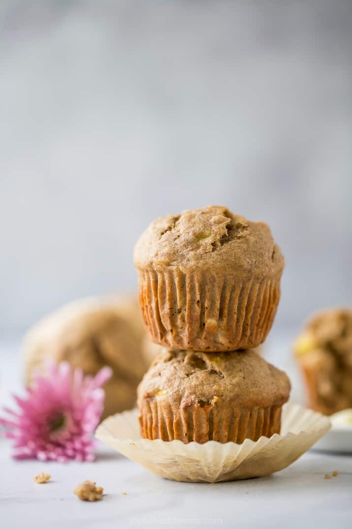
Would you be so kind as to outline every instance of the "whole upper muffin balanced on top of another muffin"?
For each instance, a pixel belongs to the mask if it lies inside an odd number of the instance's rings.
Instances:
[[[209,206],[156,219],[134,250],[143,320],[161,345],[260,345],[280,298],[284,258],[270,228]]]

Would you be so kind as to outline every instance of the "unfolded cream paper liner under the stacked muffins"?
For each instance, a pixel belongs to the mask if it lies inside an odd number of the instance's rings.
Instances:
[[[105,419],[96,431],[100,441],[158,476],[176,481],[210,482],[267,476],[288,467],[320,439],[328,417],[298,404],[285,404],[281,435],[245,439],[242,444],[204,444],[141,439],[138,411]]]

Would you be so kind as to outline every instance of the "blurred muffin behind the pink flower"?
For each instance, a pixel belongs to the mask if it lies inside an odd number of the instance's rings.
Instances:
[[[34,370],[45,370],[47,359],[67,361],[85,375],[109,366],[113,376],[104,386],[104,418],[134,406],[137,385],[152,360],[149,345],[137,298],[79,300],[45,317],[25,336],[26,384]]]

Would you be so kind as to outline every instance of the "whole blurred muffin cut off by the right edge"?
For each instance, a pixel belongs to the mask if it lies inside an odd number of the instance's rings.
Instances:
[[[294,344],[308,405],[326,415],[352,407],[352,309],[321,312]]]

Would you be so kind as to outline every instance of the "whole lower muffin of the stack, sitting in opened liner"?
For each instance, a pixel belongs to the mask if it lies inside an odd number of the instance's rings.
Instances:
[[[142,437],[242,443],[280,433],[290,381],[253,350],[164,349],[137,390]]]

